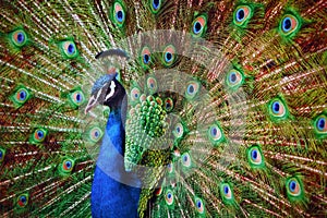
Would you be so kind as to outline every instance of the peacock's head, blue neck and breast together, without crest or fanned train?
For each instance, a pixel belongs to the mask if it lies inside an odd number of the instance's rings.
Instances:
[[[92,89],[86,112],[101,104],[110,107],[92,184],[93,217],[137,217],[141,181],[135,172],[124,169],[125,90],[114,78],[116,74],[101,76]]]

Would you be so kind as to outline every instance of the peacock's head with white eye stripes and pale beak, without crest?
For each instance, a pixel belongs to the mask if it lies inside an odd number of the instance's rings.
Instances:
[[[125,89],[116,80],[116,74],[106,74],[95,82],[85,113],[89,112],[98,104],[108,106],[111,109],[118,108],[124,96]]]

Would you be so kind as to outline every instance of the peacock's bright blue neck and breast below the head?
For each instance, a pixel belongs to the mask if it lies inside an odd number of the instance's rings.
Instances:
[[[124,170],[121,109],[109,114],[92,186],[93,217],[137,217],[141,181]]]

